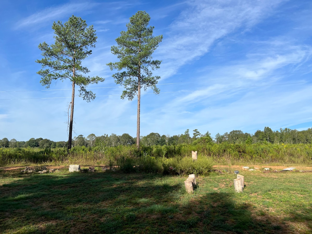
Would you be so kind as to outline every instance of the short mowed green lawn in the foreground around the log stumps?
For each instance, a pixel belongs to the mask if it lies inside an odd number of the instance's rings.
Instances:
[[[312,233],[312,173],[241,171],[235,193],[227,168],[187,194],[180,176],[20,170],[0,170],[0,233]]]

